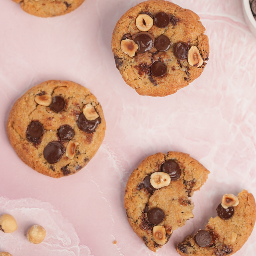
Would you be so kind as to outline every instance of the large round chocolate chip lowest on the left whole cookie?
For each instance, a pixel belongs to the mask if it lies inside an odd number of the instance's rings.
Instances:
[[[58,141],[50,142],[44,149],[44,158],[50,163],[54,164],[61,160],[65,147]]]

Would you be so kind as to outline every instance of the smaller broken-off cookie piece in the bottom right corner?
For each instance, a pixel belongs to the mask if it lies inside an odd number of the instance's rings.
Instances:
[[[225,256],[240,250],[253,231],[256,205],[253,195],[246,190],[238,194],[238,201],[237,206],[227,209],[219,204],[218,216],[209,219],[204,231],[210,234],[209,244],[202,246],[197,242],[198,234],[190,235],[178,244],[177,252],[182,256]],[[204,240],[206,241],[207,238]]]

